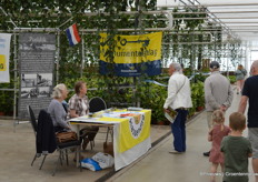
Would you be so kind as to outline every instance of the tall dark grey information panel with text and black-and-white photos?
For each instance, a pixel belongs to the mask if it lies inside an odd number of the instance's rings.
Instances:
[[[27,105],[36,115],[49,105],[53,82],[56,36],[47,33],[20,33],[19,119],[28,119]]]

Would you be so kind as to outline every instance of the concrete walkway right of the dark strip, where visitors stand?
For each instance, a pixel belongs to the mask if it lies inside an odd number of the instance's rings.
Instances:
[[[234,103],[226,114],[237,111],[240,95],[235,94]],[[207,141],[208,127],[206,114],[202,112],[187,125],[187,152],[185,154],[168,153],[172,146],[172,135],[166,138],[158,145],[149,151],[142,160],[132,166],[121,170],[109,181],[115,182],[209,182],[210,163],[202,152],[210,149]],[[247,135],[247,130],[245,131]],[[249,161],[249,172],[252,172]],[[217,181],[221,182],[218,176]],[[250,178],[250,182],[254,178]]]

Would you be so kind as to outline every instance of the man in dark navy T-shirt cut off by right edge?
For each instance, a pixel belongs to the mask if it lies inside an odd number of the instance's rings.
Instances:
[[[247,121],[248,138],[252,148],[252,170],[258,173],[258,60],[254,61],[250,68],[250,74],[244,84],[242,95],[239,102],[238,112],[245,113],[247,101],[249,102]],[[258,176],[256,175],[256,182]]]

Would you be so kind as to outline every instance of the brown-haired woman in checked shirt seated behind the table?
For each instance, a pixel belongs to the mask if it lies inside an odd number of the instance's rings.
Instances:
[[[87,94],[86,82],[78,81],[75,84],[76,94],[73,94],[68,104],[69,104],[69,117],[77,118],[87,115],[89,113],[89,100]],[[98,127],[86,127],[80,131],[80,135],[83,139],[82,149],[85,150],[89,141],[93,141],[96,134],[98,133]]]

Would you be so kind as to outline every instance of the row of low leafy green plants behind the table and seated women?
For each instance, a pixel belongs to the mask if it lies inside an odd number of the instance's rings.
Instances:
[[[88,97],[101,97],[107,101],[108,107],[112,107],[110,104],[111,102],[117,103],[131,103],[132,105],[136,105],[136,102],[140,102],[140,107],[145,109],[151,109],[151,122],[158,123],[160,121],[167,121],[167,119],[163,115],[163,102],[167,98],[167,88],[161,87],[153,83],[147,83],[141,81],[137,85],[137,97],[133,95],[133,89],[131,88],[125,88],[121,89],[121,87],[125,85],[132,85],[133,87],[133,80],[128,78],[119,78],[120,82],[116,83],[115,85],[109,85],[109,83],[102,82],[100,83],[98,80],[101,80],[101,77],[95,77],[95,78],[82,78],[79,80],[83,80],[87,82],[87,85],[89,88],[88,90]],[[118,79],[118,78],[117,78]],[[116,80],[116,79],[115,79]],[[70,90],[72,90],[75,82],[78,81],[78,79],[67,79],[64,83],[68,85]],[[167,84],[168,80],[163,80],[163,83]],[[119,87],[120,85],[120,87]],[[96,90],[92,90],[92,88],[97,88]],[[69,93],[69,98],[75,94],[73,91]],[[204,93],[204,82],[197,81],[191,82],[191,99],[192,99],[192,108],[189,109],[189,118],[192,117],[198,108],[205,107],[205,93]],[[125,105],[116,105],[118,108],[123,107],[130,107],[128,104]]]

